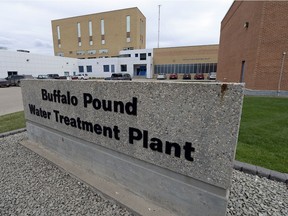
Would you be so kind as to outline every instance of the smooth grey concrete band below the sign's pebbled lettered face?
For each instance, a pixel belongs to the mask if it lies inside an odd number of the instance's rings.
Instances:
[[[223,188],[179,175],[39,124],[27,122],[26,128],[29,140],[42,148],[77,164],[95,176],[148,199],[170,211],[171,215],[226,214],[228,191]],[[133,206],[128,207],[133,209]]]

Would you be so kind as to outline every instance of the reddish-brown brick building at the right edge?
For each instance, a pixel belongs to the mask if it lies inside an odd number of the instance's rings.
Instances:
[[[234,1],[221,23],[217,79],[288,91],[287,11],[287,1]]]

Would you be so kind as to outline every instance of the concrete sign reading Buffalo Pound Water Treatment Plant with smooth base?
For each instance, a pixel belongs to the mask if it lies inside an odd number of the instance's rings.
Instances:
[[[30,139],[176,214],[225,215],[241,84],[25,80],[22,94]]]

